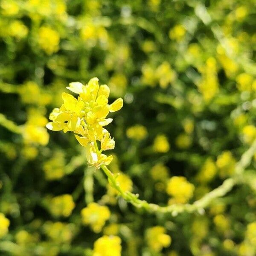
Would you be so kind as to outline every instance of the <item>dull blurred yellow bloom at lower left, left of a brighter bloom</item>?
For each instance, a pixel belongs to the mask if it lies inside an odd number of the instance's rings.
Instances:
[[[68,217],[75,208],[72,195],[59,195],[49,201],[49,211],[55,216]]]

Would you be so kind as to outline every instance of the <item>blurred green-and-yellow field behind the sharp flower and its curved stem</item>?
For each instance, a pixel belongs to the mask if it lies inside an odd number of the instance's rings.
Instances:
[[[66,86],[97,76],[124,99],[108,126],[120,185],[192,203],[256,139],[255,14],[254,0],[1,0],[0,255],[118,256],[104,235],[124,256],[256,255],[256,155],[203,215],[150,214],[45,128]]]

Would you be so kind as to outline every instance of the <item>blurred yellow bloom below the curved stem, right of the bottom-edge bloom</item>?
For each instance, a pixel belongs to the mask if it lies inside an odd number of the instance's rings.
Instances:
[[[169,247],[172,239],[165,234],[166,229],[161,226],[151,227],[146,230],[146,241],[148,246],[155,252],[160,252],[163,247]]]

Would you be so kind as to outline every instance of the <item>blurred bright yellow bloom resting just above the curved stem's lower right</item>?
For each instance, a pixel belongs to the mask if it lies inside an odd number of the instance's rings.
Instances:
[[[173,176],[167,182],[166,192],[180,203],[186,203],[192,198],[195,186],[186,177]]]

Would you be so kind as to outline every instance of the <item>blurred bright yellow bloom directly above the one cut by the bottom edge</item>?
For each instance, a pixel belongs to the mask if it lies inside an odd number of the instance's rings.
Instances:
[[[110,211],[107,206],[90,203],[81,210],[81,216],[83,224],[90,225],[93,232],[99,233],[110,218]]]

